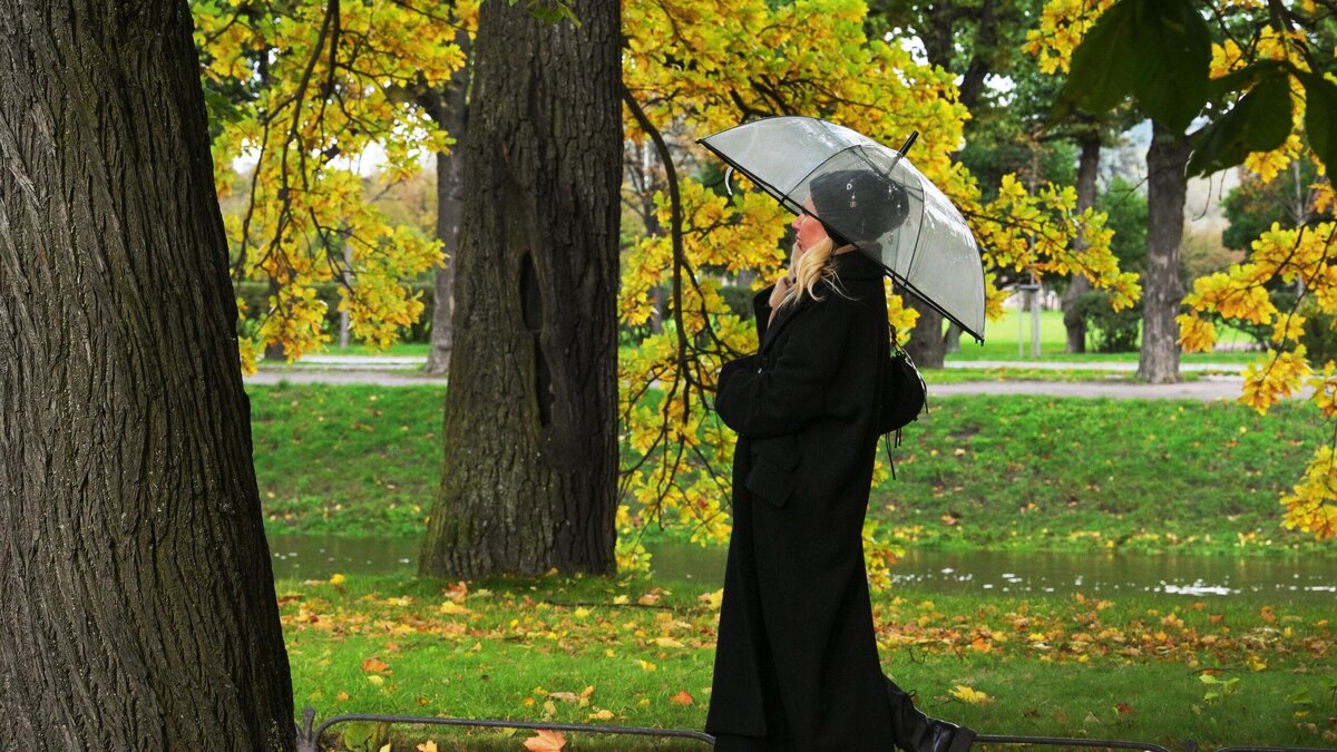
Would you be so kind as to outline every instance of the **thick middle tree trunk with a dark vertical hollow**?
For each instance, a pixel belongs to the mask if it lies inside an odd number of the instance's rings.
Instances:
[[[483,4],[424,574],[616,566],[620,12],[575,15]]]

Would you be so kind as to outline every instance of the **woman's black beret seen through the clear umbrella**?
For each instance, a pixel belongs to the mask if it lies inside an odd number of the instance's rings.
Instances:
[[[824,173],[808,183],[808,190],[817,218],[838,240],[877,240],[909,215],[905,189],[865,170]]]

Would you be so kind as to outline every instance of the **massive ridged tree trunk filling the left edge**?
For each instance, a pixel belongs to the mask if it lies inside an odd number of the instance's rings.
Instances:
[[[0,749],[290,749],[180,0],[0,0]]]

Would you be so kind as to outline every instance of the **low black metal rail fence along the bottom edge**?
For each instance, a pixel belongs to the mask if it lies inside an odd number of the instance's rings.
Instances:
[[[365,713],[352,713],[333,716],[320,725],[316,725],[316,711],[308,707],[302,713],[302,727],[297,729],[297,752],[320,752],[321,737],[336,724],[341,723],[382,723],[382,724],[417,724],[417,725],[451,725],[469,728],[497,728],[497,729],[525,729],[525,731],[575,731],[584,733],[603,733],[620,736],[644,736],[659,739],[685,739],[699,741],[714,748],[715,740],[709,733],[699,731],[686,731],[675,728],[642,728],[618,725],[586,725],[586,724],[554,724],[507,720],[480,720],[480,719],[439,719],[421,716],[377,716]],[[1062,736],[1001,736],[981,733],[975,737],[975,744],[1017,744],[1027,747],[1088,747],[1096,749],[1142,749],[1146,752],[1202,752],[1197,743],[1189,741],[1183,749],[1174,751],[1159,744],[1146,741],[1128,741],[1123,739],[1067,739]],[[1330,747],[1222,747],[1214,752],[1337,752]]]

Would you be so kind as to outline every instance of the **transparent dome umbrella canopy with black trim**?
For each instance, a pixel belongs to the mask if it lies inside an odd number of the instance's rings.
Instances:
[[[698,140],[786,209],[812,214],[908,292],[984,341],[984,269],[961,213],[905,155],[846,127],[783,116]]]

